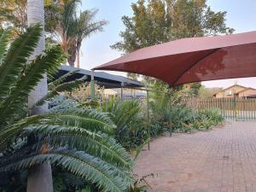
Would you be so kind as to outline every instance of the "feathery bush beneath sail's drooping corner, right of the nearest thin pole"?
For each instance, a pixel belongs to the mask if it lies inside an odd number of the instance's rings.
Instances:
[[[188,125],[193,121],[193,115],[190,115],[191,109],[186,108],[183,103],[194,89],[183,85],[170,88],[167,84],[156,82],[152,90],[149,96],[151,137],[157,137],[166,131],[189,130]]]

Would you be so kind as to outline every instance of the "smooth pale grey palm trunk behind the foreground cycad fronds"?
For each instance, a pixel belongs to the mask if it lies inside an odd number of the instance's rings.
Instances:
[[[27,0],[27,24],[28,26],[40,22],[44,28],[44,0]],[[40,55],[45,49],[44,32],[35,49],[32,59]],[[48,91],[47,75],[44,75],[44,79],[38,83],[38,85],[32,90],[30,96],[28,96],[28,107],[31,107],[42,96],[46,95]],[[47,104],[42,107],[35,108],[31,114],[41,114],[48,110]],[[51,166],[48,163],[44,163],[40,166],[34,166],[28,171],[27,176],[27,192],[52,192],[52,175]]]

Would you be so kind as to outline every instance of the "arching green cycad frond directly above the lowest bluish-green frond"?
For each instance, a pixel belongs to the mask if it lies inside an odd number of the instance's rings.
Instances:
[[[23,136],[39,135],[51,147],[69,146],[98,156],[122,169],[131,169],[130,154],[119,143],[106,134],[86,131],[79,127],[63,125],[34,125],[25,129]]]

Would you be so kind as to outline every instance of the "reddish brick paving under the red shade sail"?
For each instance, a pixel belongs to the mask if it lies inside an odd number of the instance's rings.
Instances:
[[[256,123],[160,137],[137,159],[135,172],[155,192],[256,192]]]

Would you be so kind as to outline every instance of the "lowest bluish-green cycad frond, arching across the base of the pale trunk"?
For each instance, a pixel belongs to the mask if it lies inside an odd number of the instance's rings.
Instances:
[[[0,172],[14,172],[49,162],[55,166],[73,173],[79,177],[95,183],[104,191],[125,192],[131,186],[131,173],[122,172],[107,162],[86,154],[83,151],[59,148],[49,151],[48,154],[31,154],[22,160],[12,161],[9,165],[0,166]],[[122,177],[125,175],[125,178]]]

